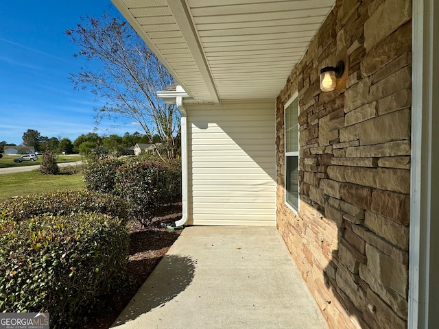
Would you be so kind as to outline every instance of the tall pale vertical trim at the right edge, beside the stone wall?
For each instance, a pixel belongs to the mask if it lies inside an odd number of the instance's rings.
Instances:
[[[408,328],[439,328],[439,5],[414,0]]]

